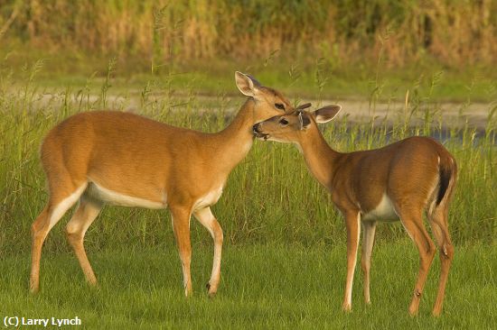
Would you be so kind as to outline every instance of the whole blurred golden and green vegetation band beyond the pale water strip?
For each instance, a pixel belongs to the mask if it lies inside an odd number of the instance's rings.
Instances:
[[[2,0],[0,58],[14,71],[44,59],[44,86],[105,78],[115,59],[114,83],[127,89],[174,75],[216,94],[232,90],[226,72],[238,69],[299,95],[324,83],[328,98],[368,95],[380,60],[384,96],[443,71],[434,99],[465,101],[471,87],[489,102],[495,13],[495,1]],[[316,67],[327,77],[319,84]]]

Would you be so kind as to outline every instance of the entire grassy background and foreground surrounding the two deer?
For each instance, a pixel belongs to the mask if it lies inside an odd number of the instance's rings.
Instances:
[[[495,324],[497,2],[158,4],[0,0],[0,318],[79,316],[91,328]],[[429,135],[455,155],[459,178],[449,215],[455,262],[440,318],[429,316],[438,261],[420,316],[408,316],[417,251],[399,223],[377,230],[373,305],[362,302],[357,271],[352,315],[340,311],[342,216],[298,151],[270,142],[255,142],[212,207],[225,234],[217,298],[203,292],[212,243],[202,225],[192,220],[196,294],[184,299],[168,211],[110,206],[85,243],[100,287],[84,283],[63,235],[66,215],[43,247],[42,292],[27,293],[30,226],[47,200],[38,149],[52,126],[81,111],[112,108],[216,132],[244,99],[235,69],[283,90],[295,104],[368,100],[364,121],[342,115],[323,127],[339,151]],[[442,116],[445,100],[459,101],[454,114],[466,124]],[[382,101],[387,113],[377,111]],[[474,102],[484,102],[484,127],[467,124]]]

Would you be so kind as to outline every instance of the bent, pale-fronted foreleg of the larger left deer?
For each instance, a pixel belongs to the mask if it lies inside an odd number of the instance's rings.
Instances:
[[[211,208],[205,207],[193,213],[197,220],[211,233],[212,240],[214,241],[214,258],[212,261],[211,280],[207,283],[209,296],[213,297],[219,287],[220,283],[220,256],[222,251],[223,234],[220,224],[212,215]]]

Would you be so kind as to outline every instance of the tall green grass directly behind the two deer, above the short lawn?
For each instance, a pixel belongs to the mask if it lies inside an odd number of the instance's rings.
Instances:
[[[109,72],[113,65],[109,64]],[[230,123],[234,115],[231,109],[236,111],[243,102],[242,96],[229,98],[220,94],[205,98],[192,89],[186,95],[175,96],[170,85],[173,76],[149,81],[140,96],[127,93],[111,96],[110,74],[99,96],[90,94],[85,86],[76,90],[62,88],[47,95],[48,91],[37,85],[35,79],[40,66],[41,63],[36,63],[32,68],[26,67],[22,81],[0,67],[0,253],[29,251],[30,225],[47,201],[38,159],[39,145],[48,130],[63,118],[102,107],[131,108],[168,124],[216,132]],[[434,88],[443,82],[440,80],[443,78],[437,79]],[[9,88],[14,81],[23,88]],[[320,81],[316,79],[315,83]],[[369,121],[352,123],[343,115],[334,124],[324,126],[323,131],[326,140],[339,151],[380,147],[418,134],[440,139],[455,155],[459,166],[449,225],[455,243],[494,243],[497,234],[495,109],[495,103],[489,105],[484,132],[467,124],[454,128],[444,123],[429,95],[422,95],[415,88],[403,108],[390,111],[391,121],[373,116]],[[409,124],[411,119],[415,120],[414,125]],[[333,209],[325,189],[305,169],[301,155],[290,145],[256,142],[247,159],[231,173],[213,212],[220,219],[229,244],[276,242],[306,246],[345,239],[342,217]],[[125,243],[136,247],[172,244],[168,217],[167,211],[109,206],[90,227],[86,244],[89,249],[97,250]],[[400,225],[381,225],[378,236],[380,240],[395,240],[405,234]],[[192,239],[211,243],[199,225],[192,225]],[[45,250],[69,250],[61,225],[52,230]]]

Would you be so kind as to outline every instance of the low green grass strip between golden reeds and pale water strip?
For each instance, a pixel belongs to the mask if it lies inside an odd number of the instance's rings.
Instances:
[[[5,58],[5,50],[0,50],[0,59]],[[239,96],[233,85],[234,71],[239,70],[255,75],[264,85],[278,87],[287,95],[324,99],[369,98],[371,91],[380,88],[379,95],[384,100],[395,99],[403,102],[406,91],[430,93],[432,101],[491,102],[495,99],[497,71],[484,66],[471,65],[460,69],[446,68],[436,62],[427,61],[402,69],[385,68],[381,61],[380,75],[370,64],[344,65],[331,67],[324,61],[303,64],[299,60],[272,58],[268,63],[248,60],[209,60],[208,67],[198,63],[178,65],[173,69],[153,75],[148,63],[143,59],[124,60],[114,56],[98,58],[81,55],[71,58],[65,53],[45,53],[36,50],[17,51],[0,60],[0,71],[4,75],[12,71],[14,87],[23,87],[29,69],[39,59],[42,70],[36,79],[40,91],[60,91],[70,88],[74,91],[87,86],[92,93],[98,92],[106,77],[108,62],[116,59],[111,74],[113,94],[139,94],[145,84],[154,82],[158,93],[164,86],[177,93],[187,94],[188,90],[207,95],[227,94]],[[28,63],[28,65],[26,65]],[[321,77],[321,76],[323,77]],[[431,82],[437,77],[436,88],[430,90]],[[90,78],[89,77],[93,77]],[[0,80],[1,85],[1,80]],[[11,86],[12,87],[12,86]]]

